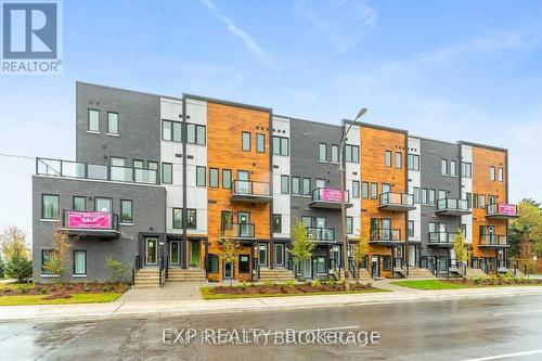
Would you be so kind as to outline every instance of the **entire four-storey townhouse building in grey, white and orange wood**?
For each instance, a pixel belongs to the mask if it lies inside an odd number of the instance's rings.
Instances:
[[[54,276],[43,265],[56,230],[72,240],[63,278],[73,282],[107,280],[107,257],[133,268],[142,285],[327,279],[343,265],[375,278],[449,275],[459,269],[459,229],[472,248],[465,267],[509,267],[507,220],[517,211],[507,197],[506,150],[365,123],[351,127],[340,150],[348,120],[83,82],[76,98],[76,159],[36,159],[36,282]],[[289,254],[297,221],[317,244],[302,263]],[[224,235],[238,244],[234,262],[223,259]],[[344,237],[367,243],[361,267],[341,259]]]

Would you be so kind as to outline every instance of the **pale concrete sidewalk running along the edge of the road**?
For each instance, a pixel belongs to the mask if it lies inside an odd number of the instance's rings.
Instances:
[[[402,288],[402,287],[401,287]],[[228,300],[116,301],[112,304],[4,306],[0,322],[16,320],[96,320],[166,317],[246,311],[278,311],[345,306],[371,306],[412,301],[440,301],[490,297],[542,295],[541,286],[412,291],[347,295],[245,298]]]

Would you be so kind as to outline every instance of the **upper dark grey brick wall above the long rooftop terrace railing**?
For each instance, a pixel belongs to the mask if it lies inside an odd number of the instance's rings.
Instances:
[[[89,133],[88,111],[100,111],[100,134]],[[119,137],[107,136],[107,112],[118,113]],[[109,164],[109,156],[160,159],[160,98],[77,82],[77,162]]]

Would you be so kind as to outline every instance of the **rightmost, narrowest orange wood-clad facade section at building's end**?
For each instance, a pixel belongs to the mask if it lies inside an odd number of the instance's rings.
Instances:
[[[490,167],[495,167],[495,180],[490,180]],[[499,168],[504,169],[503,181],[499,181]],[[473,193],[495,196],[495,203],[507,202],[506,185],[506,153],[503,151],[473,146]],[[480,225],[494,225],[495,234],[505,235],[507,220],[486,218],[486,208],[473,209],[473,248],[474,257],[495,257],[494,249],[480,249]]]

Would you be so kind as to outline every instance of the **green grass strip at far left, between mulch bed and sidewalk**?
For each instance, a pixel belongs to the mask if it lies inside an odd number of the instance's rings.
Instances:
[[[99,304],[112,302],[120,293],[100,293],[100,294],[75,294],[69,298],[43,299],[47,295],[17,295],[1,296],[0,306],[23,306],[23,305],[66,305],[66,304]]]

